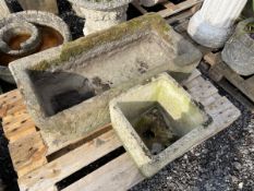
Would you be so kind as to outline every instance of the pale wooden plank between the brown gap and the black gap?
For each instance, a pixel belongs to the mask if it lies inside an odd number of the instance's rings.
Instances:
[[[121,146],[113,130],[19,179],[21,191],[40,191]]]

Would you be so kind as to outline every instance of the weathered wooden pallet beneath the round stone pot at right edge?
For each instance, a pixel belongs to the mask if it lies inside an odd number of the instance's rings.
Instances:
[[[254,112],[254,75],[243,77],[234,72],[221,60],[220,52],[209,52],[204,60],[203,68],[210,79]]]

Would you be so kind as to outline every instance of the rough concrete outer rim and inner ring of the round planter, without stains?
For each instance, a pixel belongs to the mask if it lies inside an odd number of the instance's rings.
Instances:
[[[38,34],[36,33],[35,25],[48,26],[56,29],[62,35],[64,43],[71,39],[71,33],[69,26],[57,15],[41,11],[22,11],[10,14],[9,16],[0,20],[0,34],[2,36],[2,38],[1,37],[0,38],[3,39],[0,45],[0,50],[2,52],[8,52],[11,55],[13,53],[23,55],[28,50],[36,48],[36,46],[39,44],[38,41],[39,37]],[[12,32],[13,29],[14,32],[16,32],[17,27],[23,29],[29,28],[31,31],[29,34],[33,35],[26,41],[23,43],[24,47],[22,50],[15,51],[7,47],[7,44],[4,44],[3,41],[4,41],[4,36],[10,35],[10,28],[12,28]],[[14,83],[11,72],[4,65],[0,65],[0,77],[7,82]]]

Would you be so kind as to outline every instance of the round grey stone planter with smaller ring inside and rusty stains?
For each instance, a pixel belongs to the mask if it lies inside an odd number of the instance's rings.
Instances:
[[[7,57],[11,62],[12,60],[40,51],[38,47],[44,43],[41,41],[41,27],[56,31],[61,36],[62,43],[71,39],[68,25],[55,14],[40,11],[19,12],[0,20],[0,57],[2,57],[1,53],[4,53],[4,58]],[[24,34],[27,38],[20,44],[19,48],[14,49],[8,45],[8,41]],[[44,49],[50,48],[50,46],[49,43]],[[15,59],[12,59],[12,57]],[[0,79],[9,83],[15,83],[8,64],[9,62],[4,61],[3,63],[0,59]]]

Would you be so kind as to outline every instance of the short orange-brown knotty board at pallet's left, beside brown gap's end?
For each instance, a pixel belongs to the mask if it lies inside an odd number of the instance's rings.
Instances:
[[[12,163],[19,177],[43,166],[47,163],[47,148],[38,132],[23,136],[9,144]]]

